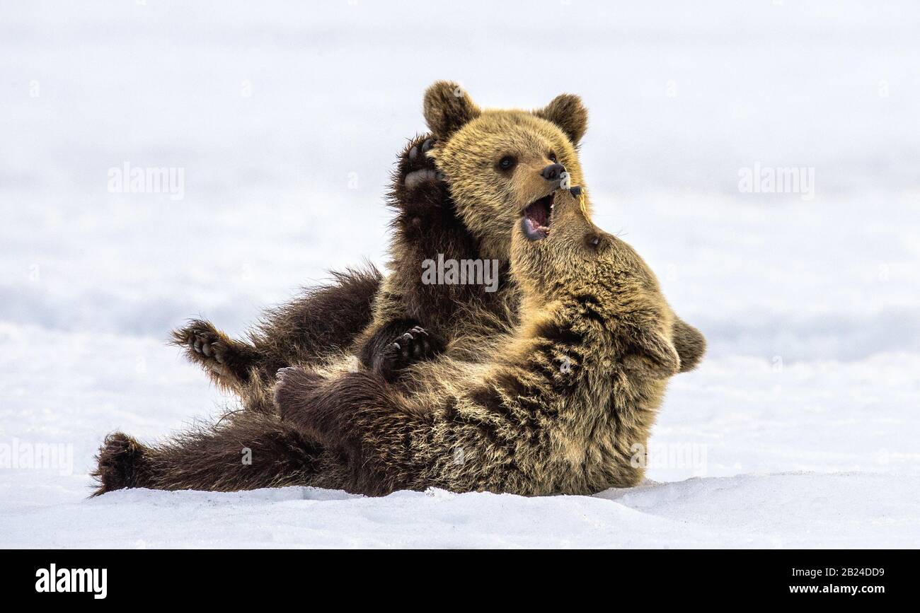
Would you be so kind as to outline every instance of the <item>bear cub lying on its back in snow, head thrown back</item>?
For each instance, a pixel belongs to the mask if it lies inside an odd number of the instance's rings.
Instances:
[[[591,494],[637,484],[644,463],[633,460],[681,370],[675,316],[628,245],[574,204],[554,216],[544,241],[515,234],[522,321],[484,345],[488,363],[419,364],[414,392],[346,362],[283,369],[281,417],[241,411],[151,448],[109,437],[98,494],[280,485]]]

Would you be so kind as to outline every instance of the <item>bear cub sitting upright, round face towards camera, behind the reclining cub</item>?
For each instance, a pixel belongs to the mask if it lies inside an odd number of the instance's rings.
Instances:
[[[516,290],[507,275],[512,219],[527,207],[545,215],[546,196],[564,171],[572,185],[583,184],[576,147],[587,111],[571,95],[535,111],[483,110],[446,81],[431,85],[423,111],[431,134],[401,154],[390,192],[397,216],[386,278],[373,267],[339,273],[328,286],[267,313],[248,341],[202,320],[173,333],[188,357],[247,407],[271,411],[265,391],[282,367],[348,350],[395,380],[478,324],[471,316],[514,312]],[[439,255],[497,260],[497,290],[424,283],[423,263]]]

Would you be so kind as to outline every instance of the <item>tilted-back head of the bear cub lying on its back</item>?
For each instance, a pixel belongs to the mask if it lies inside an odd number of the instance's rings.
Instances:
[[[703,335],[674,314],[636,251],[592,223],[577,194],[577,188],[558,190],[545,237],[532,235],[526,219],[512,233],[522,312],[574,313],[573,334],[593,336],[611,364],[653,379],[695,368],[706,347]]]

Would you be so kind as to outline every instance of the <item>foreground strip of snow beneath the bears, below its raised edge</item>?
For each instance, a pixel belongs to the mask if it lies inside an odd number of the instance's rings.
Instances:
[[[597,496],[314,488],[247,493],[122,490],[29,505],[8,547],[895,547],[920,538],[916,477],[738,475]],[[64,492],[54,491],[65,498]],[[864,505],[853,498],[870,496]],[[869,504],[870,502],[870,504]],[[103,536],[104,535],[104,536]]]

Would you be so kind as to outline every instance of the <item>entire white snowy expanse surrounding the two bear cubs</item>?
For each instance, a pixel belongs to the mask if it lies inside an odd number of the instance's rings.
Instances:
[[[597,221],[710,348],[633,490],[310,488],[89,500],[99,441],[232,399],[166,345],[241,334],[382,264],[422,93],[583,96]],[[877,3],[6,2],[0,8],[0,547],[915,547],[920,7]],[[109,168],[184,169],[182,199]],[[813,199],[739,170],[814,168]],[[44,469],[29,446],[72,451]],[[6,446],[6,447],[4,447]]]

